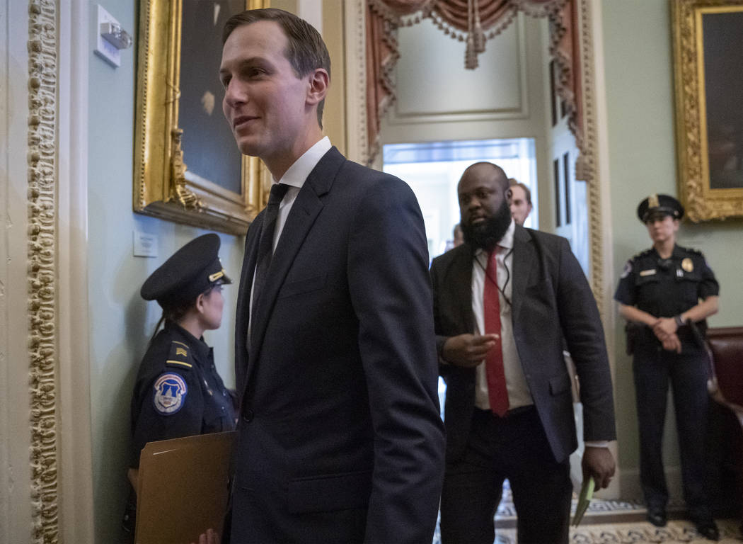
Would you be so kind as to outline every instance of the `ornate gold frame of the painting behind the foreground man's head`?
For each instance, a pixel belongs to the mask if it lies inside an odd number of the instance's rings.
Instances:
[[[212,4],[222,3],[225,2]],[[269,1],[244,0],[243,3],[246,8],[255,9],[268,7]],[[239,176],[230,176],[233,179],[227,181],[232,185],[228,186],[210,179],[208,174],[197,175],[188,170],[189,156],[184,156],[182,146],[184,129],[179,126],[183,1],[140,0],[139,9],[134,211],[175,223],[245,234],[267,199],[265,167],[256,157],[236,158],[234,141],[233,147],[215,150],[212,145],[212,150],[201,153],[202,141],[204,148],[210,142],[204,141],[207,137],[200,131],[191,131],[188,132],[191,148],[199,150],[198,154],[191,154],[192,159],[224,164],[228,162],[224,154],[230,153],[233,160],[230,167]],[[216,21],[219,7],[213,9]],[[221,34],[221,28],[215,32]],[[203,34],[189,37],[189,42],[212,39],[208,33]],[[189,62],[187,68],[194,65],[198,63]],[[218,82],[217,71],[213,80]],[[210,96],[204,108],[210,115],[215,114],[210,122],[223,122],[229,129],[227,121],[221,119],[221,95],[207,94]],[[215,153],[218,155],[213,156]]]

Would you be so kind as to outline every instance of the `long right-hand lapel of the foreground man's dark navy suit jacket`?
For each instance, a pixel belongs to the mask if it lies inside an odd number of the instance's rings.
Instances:
[[[305,184],[302,185],[302,189],[296,195],[296,200],[294,200],[281,237],[279,237],[279,243],[276,245],[276,251],[271,258],[264,292],[259,294],[258,300],[253,299],[253,305],[258,304],[258,306],[254,313],[254,321],[250,325],[248,377],[258,360],[257,356],[263,345],[268,320],[273,311],[273,306],[276,304],[276,297],[279,295],[289,269],[291,269],[294,257],[302,247],[312,224],[322,211],[321,196],[330,191],[335,176],[344,161],[345,157],[333,147],[320,159]]]

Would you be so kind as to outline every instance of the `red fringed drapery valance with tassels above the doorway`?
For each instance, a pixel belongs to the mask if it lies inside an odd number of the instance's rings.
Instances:
[[[550,54],[558,68],[557,93],[565,101],[568,125],[580,149],[583,116],[575,0],[367,0],[366,98],[370,163],[379,150],[381,119],[395,102],[392,73],[400,58],[398,28],[432,19],[441,31],[467,43],[464,65],[474,69],[487,39],[507,28],[519,11],[549,19]]]

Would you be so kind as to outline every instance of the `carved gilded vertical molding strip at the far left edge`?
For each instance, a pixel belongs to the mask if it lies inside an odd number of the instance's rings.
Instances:
[[[34,543],[59,540],[56,440],[55,0],[30,0],[28,27],[28,319]]]

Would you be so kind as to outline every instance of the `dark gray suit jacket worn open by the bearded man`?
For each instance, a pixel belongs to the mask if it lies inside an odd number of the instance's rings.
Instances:
[[[433,260],[431,277],[438,350],[473,333],[473,248],[463,244]],[[562,337],[573,356],[587,441],[614,440],[614,403],[603,327],[588,281],[568,240],[516,225],[513,237],[513,336],[524,375],[556,461],[577,447],[571,380]],[[439,365],[447,382],[447,459],[464,452],[475,406],[475,371]]]

